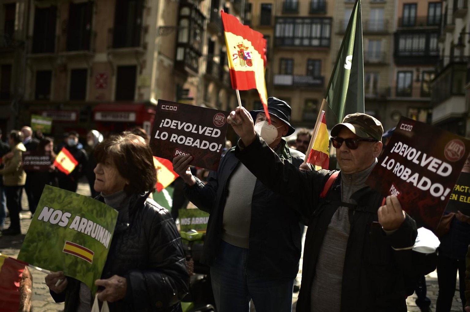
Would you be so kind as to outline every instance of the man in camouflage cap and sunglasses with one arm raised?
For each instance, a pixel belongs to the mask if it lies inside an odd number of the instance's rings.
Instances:
[[[259,139],[244,108],[227,121],[241,137],[236,157],[308,219],[296,311],[406,312],[405,274],[417,273],[411,261],[416,223],[395,196],[384,201],[365,184],[382,150],[382,124],[357,113],[331,129],[338,172],[282,162]]]

